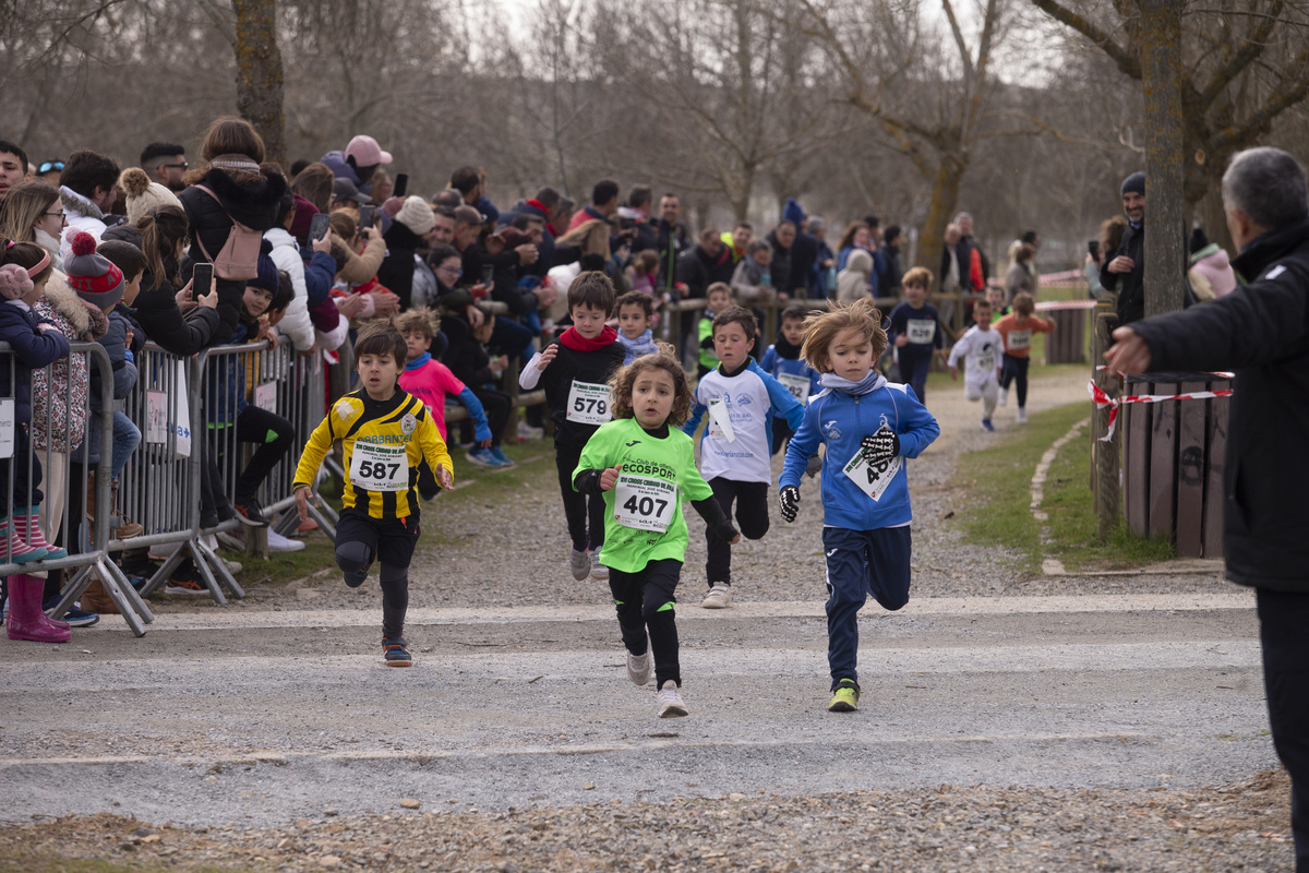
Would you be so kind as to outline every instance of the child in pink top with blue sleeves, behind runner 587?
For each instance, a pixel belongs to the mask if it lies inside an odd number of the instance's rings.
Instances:
[[[488,463],[488,466],[500,466],[500,461],[490,453],[492,444],[499,448],[499,442],[493,440],[493,435],[504,432],[508,418],[501,416],[493,424],[488,421],[487,414],[482,407],[482,401],[476,398],[473,389],[461,382],[450,372],[449,366],[432,357],[432,353],[427,351],[436,336],[437,325],[440,325],[436,313],[427,306],[418,306],[416,309],[410,309],[395,315],[391,323],[404,336],[406,360],[404,370],[401,373],[401,389],[427,404],[427,411],[432,414],[436,429],[441,433],[441,438],[446,441],[446,445],[449,445],[449,440],[445,436],[445,398],[453,397],[458,401],[469,411],[469,418],[473,419],[476,428],[474,438],[478,441],[478,445],[469,452],[469,459],[473,459],[475,453],[482,452],[487,453],[487,457],[491,458],[492,463]],[[504,452],[501,450],[500,454],[504,454]],[[509,461],[509,458],[505,458],[505,461]],[[482,463],[487,462],[483,461]],[[436,487],[436,479],[432,476],[432,471],[427,467],[425,462],[419,465],[418,491],[424,500],[432,500],[440,493],[440,490]]]

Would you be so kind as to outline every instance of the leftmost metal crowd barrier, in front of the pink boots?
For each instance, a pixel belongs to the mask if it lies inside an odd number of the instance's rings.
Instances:
[[[5,535],[0,538],[0,576],[35,575],[45,576],[48,571],[75,569],[62,590],[58,605],[52,615],[59,618],[68,611],[73,601],[81,596],[92,582],[93,575],[105,586],[105,592],[113,598],[128,627],[136,636],[145,633],[145,624],[154,620],[154,615],[140,594],[131,586],[123,572],[109,559],[110,524],[110,469],[114,445],[114,377],[109,360],[109,353],[99,343],[69,343],[69,355],[54,364],[33,373],[35,382],[31,391],[33,419],[29,424],[16,421],[17,398],[17,366],[13,347],[0,343],[0,355],[9,357],[8,395],[0,399],[0,465],[7,475],[5,487],[0,491],[5,518]],[[98,368],[103,373],[101,380],[101,435],[99,435],[99,461],[96,463],[96,490],[92,492],[86,479],[86,458],[89,457],[86,445],[85,425],[77,428],[73,421],[89,421],[90,411],[89,390],[86,397],[80,397],[76,385],[82,378],[76,374],[79,370],[88,377],[92,369]],[[58,385],[60,383],[62,385]],[[60,390],[62,389],[62,390]],[[43,406],[45,411],[38,410]],[[62,410],[59,408],[62,407]],[[24,428],[20,436],[18,428]],[[22,444],[21,446],[18,444]],[[37,444],[42,449],[37,449]],[[62,446],[65,450],[59,450]],[[26,487],[14,488],[16,475],[26,465],[27,471],[33,471],[34,463],[41,465],[42,484],[46,500],[37,509],[41,512],[42,531],[47,541],[62,544],[68,550],[67,558],[42,559],[26,563],[16,563],[10,534],[14,531],[14,512],[17,509],[29,510],[38,486],[34,475],[25,475]],[[52,486],[52,488],[51,488]],[[84,512],[73,513],[72,497],[81,497]],[[90,501],[90,503],[88,503]],[[46,517],[50,505],[62,507],[59,512]],[[84,527],[85,509],[93,505],[94,524],[89,530]],[[54,524],[58,520],[58,525]],[[30,539],[30,537],[29,537]]]

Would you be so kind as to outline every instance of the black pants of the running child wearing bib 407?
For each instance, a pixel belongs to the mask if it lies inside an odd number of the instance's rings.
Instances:
[[[660,687],[672,679],[682,687],[682,665],[677,657],[677,620],[674,592],[682,577],[682,561],[672,558],[652,560],[635,573],[609,568],[609,590],[618,610],[618,627],[623,645],[632,654],[645,653],[645,633],[654,653],[654,683]]]

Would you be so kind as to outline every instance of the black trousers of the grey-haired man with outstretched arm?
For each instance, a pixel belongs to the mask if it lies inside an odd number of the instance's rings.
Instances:
[[[1258,589],[1272,746],[1291,774],[1296,870],[1309,873],[1309,593]]]

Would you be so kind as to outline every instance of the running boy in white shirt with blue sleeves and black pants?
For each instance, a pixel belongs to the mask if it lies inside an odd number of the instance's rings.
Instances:
[[[724,514],[730,517],[736,503],[736,520],[747,539],[768,533],[772,419],[784,416],[797,428],[805,412],[800,401],[750,357],[758,332],[754,313],[740,306],[713,319],[713,348],[721,363],[695,387],[695,411],[683,428],[694,435],[708,411],[709,423],[700,437],[700,472]],[[712,527],[706,538],[708,593],[700,606],[725,609],[732,602],[732,546]]]

